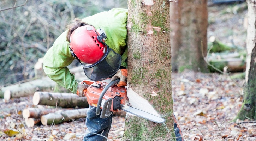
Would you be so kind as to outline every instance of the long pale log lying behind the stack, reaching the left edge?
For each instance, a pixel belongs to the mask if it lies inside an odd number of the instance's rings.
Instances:
[[[34,94],[36,91],[51,90],[56,83],[48,77],[31,80],[21,84],[2,87],[0,95],[4,95],[5,102],[11,98],[25,97]]]

